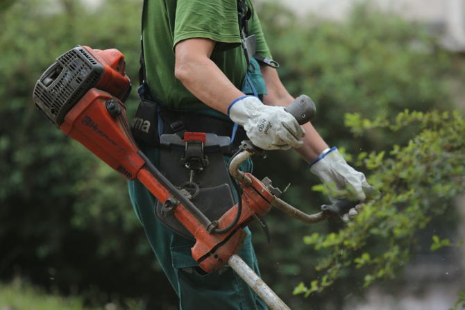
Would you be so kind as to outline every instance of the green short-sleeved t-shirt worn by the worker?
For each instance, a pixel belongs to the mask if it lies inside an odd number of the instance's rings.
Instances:
[[[248,32],[255,34],[256,54],[271,58],[255,8],[251,0],[246,3],[252,10]],[[237,0],[150,0],[146,1],[143,18],[147,83],[160,103],[179,111],[208,109],[174,76],[174,46],[194,37],[217,42],[211,59],[242,89],[246,60],[239,35]],[[205,83],[214,87],[214,81]]]

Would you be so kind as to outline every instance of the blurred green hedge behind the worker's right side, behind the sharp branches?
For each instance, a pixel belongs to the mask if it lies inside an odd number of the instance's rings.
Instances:
[[[413,125],[395,131],[387,127],[389,123],[396,123],[396,117],[405,108],[419,112],[451,110],[445,78],[452,75],[450,55],[437,46],[435,38],[423,25],[412,24],[369,6],[356,7],[344,21],[321,20],[315,15],[298,18],[294,12],[274,2],[263,2],[260,13],[273,57],[282,64],[278,72],[283,84],[291,94],[312,97],[316,103],[312,123],[330,146],[338,146],[346,154],[354,154],[355,158],[359,153],[371,154],[376,150],[378,160],[384,160],[394,144],[405,145],[418,133],[418,128]],[[348,112],[351,114],[346,123],[353,132],[344,124]],[[364,128],[366,124],[369,126],[365,127],[370,128]],[[380,155],[382,151],[384,155]],[[376,163],[376,157],[369,158],[369,164]],[[373,173],[364,166],[358,168],[367,175]],[[416,168],[421,174],[421,166],[410,167]],[[290,152],[270,152],[267,160],[255,162],[255,173],[260,177],[268,175],[280,187],[290,182],[292,186],[283,199],[305,212],[317,212],[320,205],[328,203],[325,196],[310,191],[319,181],[308,171],[307,164]],[[260,266],[267,282],[285,300],[291,300],[292,309],[307,309],[305,304],[308,302],[315,309],[323,309],[322,304],[340,309],[344,296],[363,293],[364,275],[372,275],[371,271],[375,273],[369,268],[357,269],[353,267],[355,263],[348,267],[339,266],[335,263],[339,257],[330,254],[336,253],[338,248],[316,251],[296,241],[300,236],[312,236],[315,232],[314,238],[318,236],[315,240],[329,243],[330,238],[339,236],[338,231],[343,227],[340,223],[309,227],[291,218],[283,221],[282,214],[276,211],[267,216],[267,222],[272,234],[271,246],[265,243],[258,230],[254,236],[258,241]],[[410,233],[415,234],[418,225],[411,224]],[[357,233],[355,227],[351,229],[353,234]],[[305,239],[309,240],[312,239]],[[364,252],[370,254],[370,259],[378,258],[373,251],[378,251],[376,244],[382,240],[374,235],[370,241],[364,251],[356,252],[363,259],[367,258],[362,256]],[[391,246],[389,243],[379,245]],[[344,250],[343,245],[340,248]],[[260,255],[262,253],[266,255]],[[407,261],[408,258],[400,259]],[[332,268],[323,268],[332,263]],[[322,269],[315,270],[315,266]],[[337,277],[339,281],[333,284]],[[362,279],[361,283],[355,282],[356,279]],[[308,287],[301,290],[305,292],[321,291],[323,286],[331,285],[331,288],[312,294],[311,300],[301,301],[289,295],[289,283],[299,282]]]

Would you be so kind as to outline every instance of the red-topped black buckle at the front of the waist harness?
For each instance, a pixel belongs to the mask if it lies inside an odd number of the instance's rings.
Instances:
[[[208,166],[208,156],[204,155],[203,147],[207,141],[205,132],[185,132],[185,152],[181,164],[193,171],[203,171]]]

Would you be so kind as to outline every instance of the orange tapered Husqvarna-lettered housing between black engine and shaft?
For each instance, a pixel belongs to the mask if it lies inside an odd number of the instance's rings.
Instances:
[[[105,107],[110,100],[121,108],[117,117]],[[60,129],[129,180],[144,166],[130,135],[125,107],[107,92],[90,89],[68,112]]]

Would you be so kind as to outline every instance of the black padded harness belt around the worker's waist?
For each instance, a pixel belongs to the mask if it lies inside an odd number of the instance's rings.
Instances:
[[[159,122],[159,117],[162,123]],[[137,142],[158,148],[159,137],[163,133],[176,133],[181,138],[184,132],[205,132],[231,137],[234,125],[232,121],[201,114],[174,112],[161,107],[154,101],[144,100],[137,107],[131,130]],[[246,132],[242,126],[238,126],[231,143],[231,151],[237,148],[244,139],[247,139]]]

